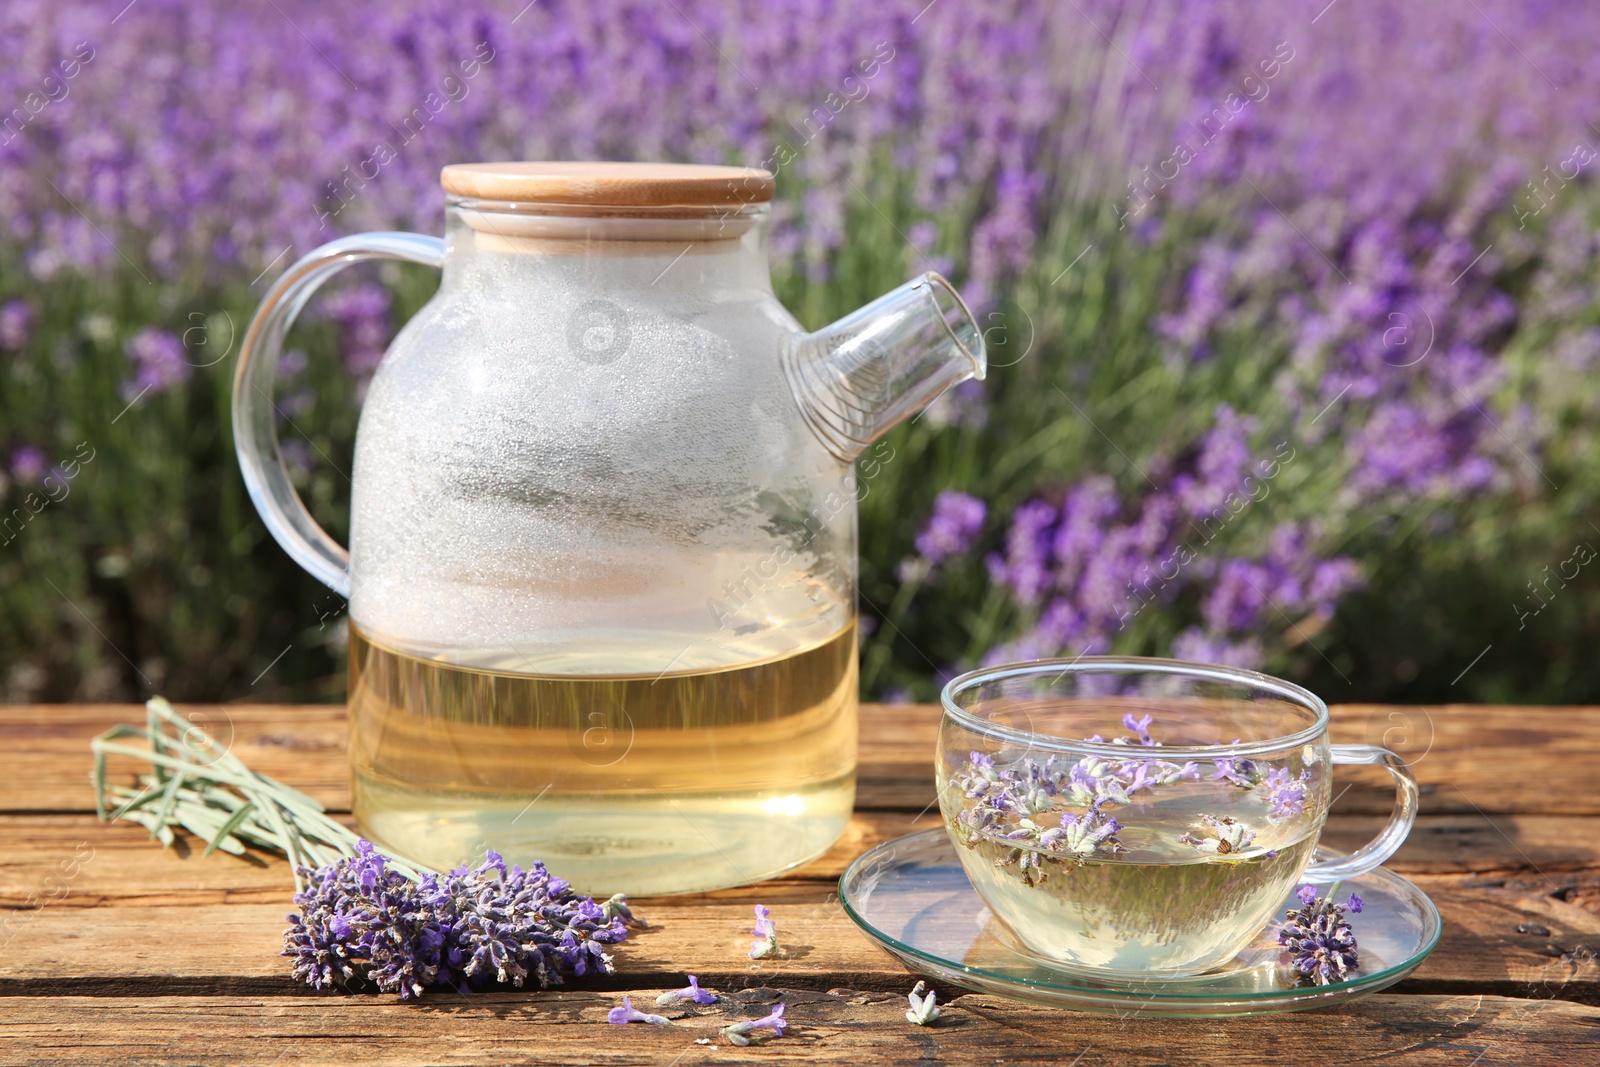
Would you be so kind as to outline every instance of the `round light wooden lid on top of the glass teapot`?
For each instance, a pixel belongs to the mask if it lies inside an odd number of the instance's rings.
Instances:
[[[766,203],[776,187],[763,170],[691,163],[451,163],[438,181],[475,200],[605,208]]]

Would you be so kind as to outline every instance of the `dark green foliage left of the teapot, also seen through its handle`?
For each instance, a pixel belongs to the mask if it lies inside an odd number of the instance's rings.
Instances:
[[[24,288],[5,277],[0,288],[35,318],[26,349],[0,357],[0,446],[38,446],[51,462],[90,456],[59,499],[38,507],[48,496],[27,485],[3,498],[13,528],[0,544],[0,694],[341,699],[330,638],[342,601],[272,542],[234,459],[234,357],[261,288],[115,280]],[[408,307],[432,286],[394,280]],[[142,326],[181,334],[192,368],[184,386],[134,398],[125,344]],[[309,434],[320,461],[298,488],[342,537],[355,387],[328,323],[296,339],[312,354],[299,387],[315,402],[285,437]]]

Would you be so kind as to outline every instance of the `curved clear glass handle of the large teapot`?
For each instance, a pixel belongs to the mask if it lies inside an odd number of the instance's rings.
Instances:
[[[290,323],[334,272],[368,259],[402,259],[429,267],[445,262],[445,242],[422,234],[357,234],[302,256],[267,291],[245,333],[234,371],[234,448],[250,499],[290,557],[312,577],[350,597],[350,552],[328,536],[294,491],[274,414],[272,386]]]

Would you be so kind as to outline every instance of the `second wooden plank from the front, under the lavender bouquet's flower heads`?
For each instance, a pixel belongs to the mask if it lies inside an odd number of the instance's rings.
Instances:
[[[93,867],[99,857],[86,867]],[[208,861],[210,862],[210,861]],[[1562,883],[1493,883],[1474,877],[1419,875],[1416,881],[1445,917],[1440,949],[1402,990],[1558,995],[1600,1003],[1600,915],[1557,891],[1600,893],[1600,873],[1555,875]],[[174,883],[178,885],[178,883]],[[685,971],[718,982],[762,981],[827,989],[894,989],[906,969],[878,950],[840,910],[830,886],[808,893],[766,883],[744,901],[678,897],[640,902],[651,926],[618,952],[626,982],[672,982]],[[210,896],[210,894],[202,894]],[[293,990],[282,947],[290,891],[258,893],[248,902],[62,904],[0,917],[0,995],[50,992],[286,993]],[[213,897],[214,899],[214,897]],[[750,901],[773,909],[787,952],[752,963]],[[1531,923],[1549,934],[1522,933]]]

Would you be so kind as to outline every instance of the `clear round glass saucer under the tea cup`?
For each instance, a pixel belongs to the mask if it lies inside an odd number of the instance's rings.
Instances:
[[[1317,849],[1317,859],[1338,856]],[[1272,931],[1210,974],[1128,981],[1056,969],[1029,955],[984,907],[942,827],[878,845],[838,880],[845,913],[912,971],[1037,1005],[1141,1016],[1304,1011],[1394,985],[1438,944],[1438,909],[1381,867],[1339,885],[1339,897],[1350,893],[1363,904],[1350,918],[1360,969],[1333,985],[1299,985]],[[1294,905],[1298,901],[1285,899],[1278,918]]]

